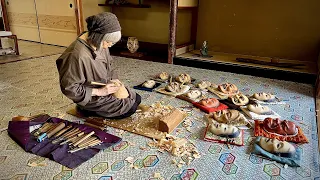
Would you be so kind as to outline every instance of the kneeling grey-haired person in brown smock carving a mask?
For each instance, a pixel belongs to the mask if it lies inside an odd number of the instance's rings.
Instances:
[[[77,104],[84,115],[122,119],[135,113],[141,96],[128,91],[127,98],[113,96],[121,83],[113,67],[109,48],[121,38],[117,17],[109,12],[86,19],[87,32],[82,33],[57,59],[62,93]],[[91,82],[105,83],[92,86]]]

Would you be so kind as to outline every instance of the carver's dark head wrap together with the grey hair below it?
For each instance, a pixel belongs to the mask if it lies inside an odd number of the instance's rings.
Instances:
[[[91,43],[96,47],[100,47],[106,34],[121,31],[117,16],[110,12],[103,12],[87,17],[86,22],[89,38],[92,39]]]

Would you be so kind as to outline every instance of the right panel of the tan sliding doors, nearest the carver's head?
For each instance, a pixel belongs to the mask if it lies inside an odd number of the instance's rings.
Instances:
[[[75,0],[35,0],[35,2],[41,42],[60,46],[70,45],[77,37]]]

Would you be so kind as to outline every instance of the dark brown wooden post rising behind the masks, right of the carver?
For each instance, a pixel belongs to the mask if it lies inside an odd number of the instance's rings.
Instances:
[[[168,63],[173,63],[176,55],[176,34],[177,34],[177,12],[178,0],[170,0],[170,24],[169,24],[169,46],[168,46]]]

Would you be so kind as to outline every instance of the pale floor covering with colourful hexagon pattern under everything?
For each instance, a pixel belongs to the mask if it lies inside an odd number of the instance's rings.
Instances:
[[[41,61],[34,59],[0,65],[0,129],[5,128],[16,115],[29,116],[44,112],[70,121],[79,120],[65,113],[73,104],[60,92],[55,67],[57,58],[55,55]],[[109,133],[122,137],[123,141],[71,170],[49,159],[24,152],[3,131],[0,134],[0,179],[161,179],[154,178],[155,173],[160,173],[161,177],[168,180],[320,178],[314,89],[311,85],[118,57],[115,58],[115,65],[120,79],[129,87],[141,84],[156,73],[167,71],[174,74],[189,73],[195,79],[216,84],[234,83],[245,94],[257,91],[275,93],[286,104],[272,105],[271,108],[282,118],[297,123],[310,141],[298,147],[303,152],[302,166],[285,167],[251,154],[254,140],[252,130],[245,131],[245,146],[241,147],[229,148],[203,141],[206,127],[204,113],[185,108],[189,110],[186,119],[192,122],[191,128],[187,130],[180,125],[173,134],[188,138],[200,151],[201,157],[190,165],[179,168],[172,164],[173,160],[183,162],[186,159],[150,148],[147,143],[151,139],[109,128]],[[159,93],[135,91],[142,96],[144,104],[161,102],[178,108],[190,105]],[[125,160],[127,157],[133,157],[136,168],[132,168]]]

